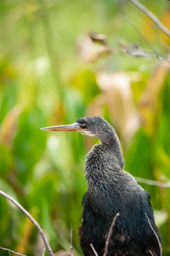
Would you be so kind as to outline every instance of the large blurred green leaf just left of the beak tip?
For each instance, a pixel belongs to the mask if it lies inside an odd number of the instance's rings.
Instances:
[[[22,183],[31,179],[34,165],[40,159],[46,145],[46,133],[40,128],[45,126],[44,118],[38,108],[25,110],[20,115],[18,134],[14,139],[18,177]]]

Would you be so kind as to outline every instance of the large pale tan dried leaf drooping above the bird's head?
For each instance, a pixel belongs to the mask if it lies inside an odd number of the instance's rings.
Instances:
[[[138,73],[98,73],[96,80],[110,109],[111,119],[125,143],[139,128],[139,118],[133,103],[132,81],[139,81]]]

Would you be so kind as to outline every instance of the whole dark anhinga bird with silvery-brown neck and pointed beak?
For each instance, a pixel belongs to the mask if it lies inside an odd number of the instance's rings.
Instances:
[[[93,244],[102,256],[105,241],[116,213],[119,217],[108,246],[108,256],[160,255],[158,235],[150,194],[128,172],[119,139],[113,127],[99,116],[79,118],[74,124],[42,128],[48,131],[75,131],[98,138],[86,155],[85,178],[88,191],[82,199],[83,221],[79,228],[80,244],[85,256],[94,255]]]

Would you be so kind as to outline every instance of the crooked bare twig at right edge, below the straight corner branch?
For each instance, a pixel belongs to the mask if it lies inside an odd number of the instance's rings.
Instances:
[[[139,51],[139,52],[132,52],[128,44],[126,44],[124,41],[119,40],[119,45],[122,47],[123,52],[126,52],[127,54],[133,56],[133,57],[147,57],[147,58],[158,58],[161,61],[168,61],[170,62],[169,58],[153,55],[147,52]]]

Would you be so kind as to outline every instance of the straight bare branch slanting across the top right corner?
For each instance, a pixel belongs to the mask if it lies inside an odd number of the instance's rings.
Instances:
[[[142,3],[139,3],[139,1],[137,0],[129,1],[133,3],[142,12],[144,12],[148,17],[150,17],[150,19],[153,20],[153,22],[159,27],[159,29],[161,29],[168,37],[170,37],[170,30],[167,29],[152,12],[150,12],[145,6],[143,6]]]

